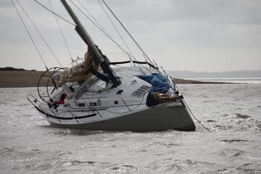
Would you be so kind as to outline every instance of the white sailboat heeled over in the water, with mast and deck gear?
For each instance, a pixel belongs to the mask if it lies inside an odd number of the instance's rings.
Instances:
[[[48,69],[38,82],[39,97],[27,95],[50,125],[90,130],[195,130],[174,78],[152,62],[110,62],[66,0],[61,1],[88,51],[84,62]],[[44,89],[39,87],[43,81],[47,82]]]

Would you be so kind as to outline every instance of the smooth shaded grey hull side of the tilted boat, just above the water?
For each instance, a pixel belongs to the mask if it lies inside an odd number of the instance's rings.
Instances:
[[[90,130],[129,130],[129,131],[165,131],[169,129],[194,131],[195,125],[186,107],[168,106],[163,103],[146,107],[136,112],[120,114],[99,121],[72,123],[43,114],[44,118],[54,127]],[[54,121],[55,120],[55,121]]]

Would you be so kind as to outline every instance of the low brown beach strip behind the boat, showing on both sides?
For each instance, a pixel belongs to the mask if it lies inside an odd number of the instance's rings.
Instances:
[[[37,87],[38,80],[44,71],[0,71],[0,88],[4,87]],[[176,84],[230,84],[222,82],[201,82],[174,78]],[[47,83],[47,81],[46,81]],[[39,84],[45,87],[46,83]]]

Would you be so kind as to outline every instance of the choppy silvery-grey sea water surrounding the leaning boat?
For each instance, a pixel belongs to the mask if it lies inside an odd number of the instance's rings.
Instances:
[[[53,128],[26,99],[35,87],[0,88],[0,173],[260,174],[261,81],[234,81],[178,85],[211,132],[195,118],[194,132]]]

